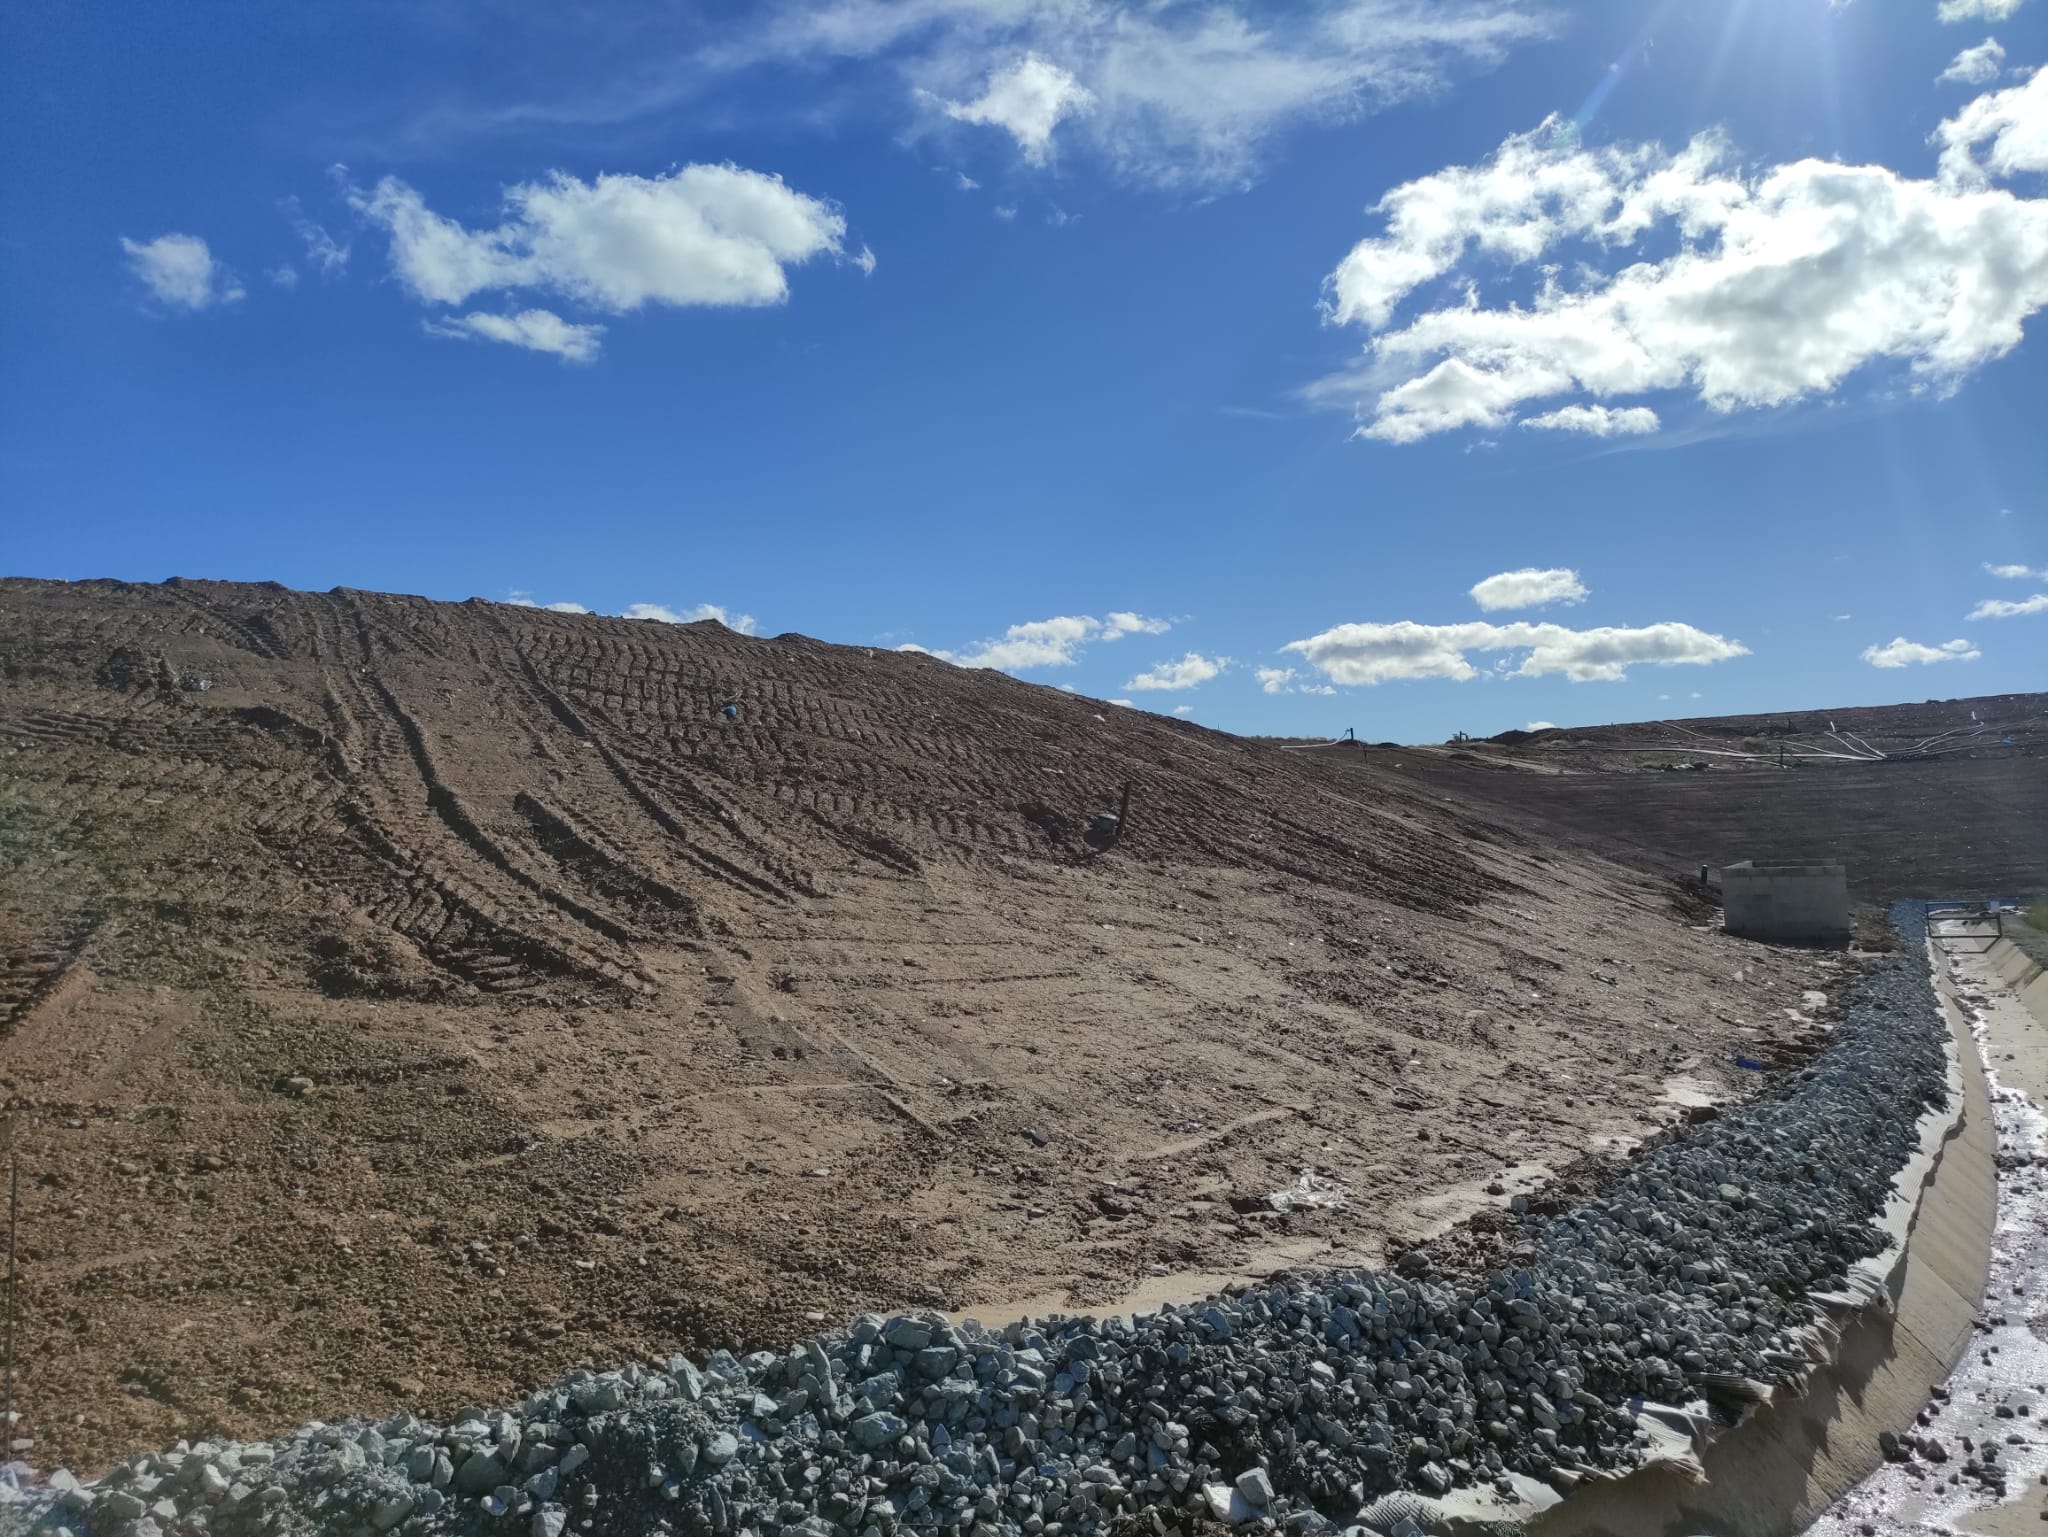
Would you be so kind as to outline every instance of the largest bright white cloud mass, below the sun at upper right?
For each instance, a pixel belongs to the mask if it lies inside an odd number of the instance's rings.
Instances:
[[[2048,166],[2048,72],[1935,139],[1931,180],[1829,160],[1751,174],[1720,133],[1675,154],[1585,148],[1550,119],[1378,201],[1384,234],[1325,283],[1327,318],[1374,338],[1362,367],[1307,393],[1356,400],[1364,437],[1415,443],[1569,396],[1784,406],[1878,361],[1952,387],[2048,305],[2048,199],[1987,182]],[[1489,301],[1518,268],[1534,291]],[[1454,303],[1395,324],[1454,273]]]

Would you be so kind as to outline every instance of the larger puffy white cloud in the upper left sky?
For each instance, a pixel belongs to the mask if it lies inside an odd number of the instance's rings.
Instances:
[[[641,305],[772,305],[788,271],[844,256],[846,217],[739,166],[664,176],[553,172],[504,193],[504,219],[469,230],[395,176],[348,201],[391,236],[391,271],[422,303],[489,291],[559,293],[606,314]],[[852,258],[860,260],[860,258]]]

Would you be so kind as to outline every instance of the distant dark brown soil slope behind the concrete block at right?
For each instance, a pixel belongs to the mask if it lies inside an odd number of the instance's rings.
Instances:
[[[1778,766],[1778,744],[1843,752],[1829,723],[1880,752],[1911,752],[1939,732],[1978,723],[1991,730],[1954,756],[1843,762],[1792,754],[1794,766]],[[1655,750],[1636,750],[1647,744]],[[1712,758],[1702,746],[1765,756]],[[1358,793],[1407,785],[1524,824],[1540,818],[1554,836],[1642,869],[1841,859],[1851,894],[1870,904],[2048,894],[2048,695],[1507,732],[1452,746],[1296,746],[1292,754],[1354,781]],[[1663,766],[1673,762],[1712,766]]]

